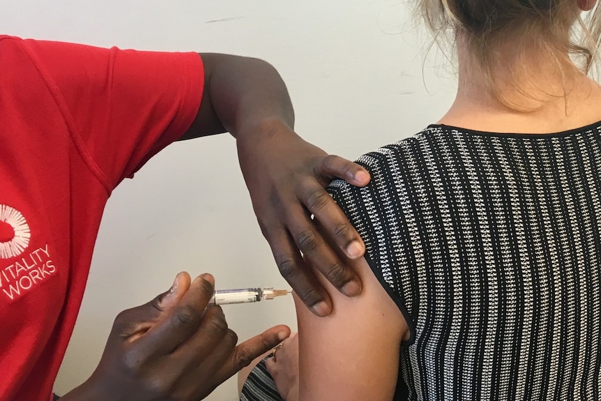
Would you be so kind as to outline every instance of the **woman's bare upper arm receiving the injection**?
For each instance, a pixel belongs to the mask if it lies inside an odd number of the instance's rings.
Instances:
[[[319,276],[333,313],[316,317],[295,296],[299,340],[299,400],[392,400],[400,346],[409,328],[365,259],[352,266],[363,292],[348,298]]]

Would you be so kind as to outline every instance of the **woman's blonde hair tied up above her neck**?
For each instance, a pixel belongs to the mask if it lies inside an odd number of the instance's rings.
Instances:
[[[600,43],[600,8],[583,19],[576,0],[418,0],[418,10],[437,42],[462,34],[492,93],[496,68],[519,68],[519,59],[499,59],[502,46],[519,56],[534,45],[558,66],[574,62],[588,74]]]

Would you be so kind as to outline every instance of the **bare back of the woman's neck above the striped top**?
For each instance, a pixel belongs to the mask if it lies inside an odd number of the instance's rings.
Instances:
[[[601,121],[601,87],[548,54],[507,54],[492,81],[459,45],[457,97],[439,123],[497,133],[557,133]],[[514,65],[508,68],[510,61]],[[493,82],[495,90],[492,89]]]

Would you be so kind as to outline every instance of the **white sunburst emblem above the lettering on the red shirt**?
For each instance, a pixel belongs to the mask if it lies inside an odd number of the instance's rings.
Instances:
[[[0,259],[21,255],[30,237],[29,225],[21,212],[0,204]]]

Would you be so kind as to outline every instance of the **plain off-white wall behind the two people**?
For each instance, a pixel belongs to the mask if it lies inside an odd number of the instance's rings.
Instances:
[[[390,0],[2,0],[3,33],[144,50],[258,56],[286,80],[297,131],[356,158],[416,133],[454,96],[408,4]],[[423,74],[424,73],[424,74]],[[443,77],[443,79],[441,79]],[[444,78],[446,77],[446,78]],[[75,334],[56,380],[64,393],[89,376],[114,316],[165,291],[178,271],[217,286],[286,287],[252,213],[234,139],[169,146],[109,200]],[[225,307],[241,339],[296,326],[291,299]],[[234,381],[208,400],[237,400]]]

